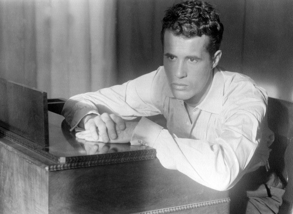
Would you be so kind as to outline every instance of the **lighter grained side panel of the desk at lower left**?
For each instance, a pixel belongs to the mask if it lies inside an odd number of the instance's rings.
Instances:
[[[48,172],[0,140],[0,213],[47,213]]]

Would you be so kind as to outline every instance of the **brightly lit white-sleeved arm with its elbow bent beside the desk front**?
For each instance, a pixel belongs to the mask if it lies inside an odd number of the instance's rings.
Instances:
[[[264,113],[262,101],[227,108],[214,142],[179,138],[142,118],[131,143],[137,144],[142,139],[156,149],[164,167],[177,169],[204,186],[223,191],[234,186],[245,173],[260,141],[260,122]]]

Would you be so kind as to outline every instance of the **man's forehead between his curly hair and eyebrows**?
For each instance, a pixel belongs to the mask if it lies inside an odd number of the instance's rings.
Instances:
[[[207,52],[209,40],[207,35],[185,38],[182,35],[175,35],[172,31],[166,30],[164,34],[164,52]]]

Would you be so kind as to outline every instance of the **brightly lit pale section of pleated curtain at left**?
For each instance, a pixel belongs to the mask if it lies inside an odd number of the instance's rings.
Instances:
[[[116,0],[1,0],[0,77],[69,98],[117,82]]]

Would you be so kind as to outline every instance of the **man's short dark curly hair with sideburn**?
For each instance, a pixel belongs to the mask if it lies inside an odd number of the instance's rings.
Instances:
[[[161,30],[163,47],[166,30],[185,38],[209,36],[207,51],[212,57],[219,50],[224,27],[220,22],[219,12],[213,5],[204,1],[185,1],[166,10]]]

